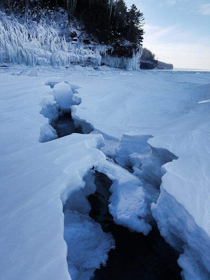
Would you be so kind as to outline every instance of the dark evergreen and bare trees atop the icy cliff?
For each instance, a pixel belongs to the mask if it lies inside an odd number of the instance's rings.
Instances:
[[[70,21],[84,24],[86,31],[100,43],[129,41],[142,44],[143,13],[132,4],[127,8],[124,0],[2,0],[0,9],[7,13],[33,15],[39,21],[43,13],[58,8],[67,10]]]

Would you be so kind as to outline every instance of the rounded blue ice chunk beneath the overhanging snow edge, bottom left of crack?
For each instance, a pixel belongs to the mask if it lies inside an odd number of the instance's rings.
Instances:
[[[115,248],[114,239],[87,214],[66,210],[64,217],[64,239],[68,246],[71,279],[89,280],[101,263],[106,265],[108,251]]]

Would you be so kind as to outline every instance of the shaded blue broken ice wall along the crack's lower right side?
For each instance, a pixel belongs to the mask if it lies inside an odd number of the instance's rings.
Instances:
[[[209,236],[195,223],[185,207],[162,188],[157,204],[152,205],[152,213],[161,235],[181,252],[178,264],[183,269],[184,279],[210,279]]]

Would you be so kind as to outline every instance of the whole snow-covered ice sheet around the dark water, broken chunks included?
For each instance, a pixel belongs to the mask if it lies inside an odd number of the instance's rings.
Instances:
[[[156,220],[184,279],[210,279],[210,74],[69,68],[0,70],[1,278],[86,280],[106,264],[94,167],[115,223],[148,234]],[[85,134],[58,139],[69,111]]]

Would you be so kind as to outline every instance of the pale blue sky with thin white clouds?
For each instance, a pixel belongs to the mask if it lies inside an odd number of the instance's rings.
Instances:
[[[210,70],[210,0],[129,0],[145,17],[143,47],[176,68]]]

